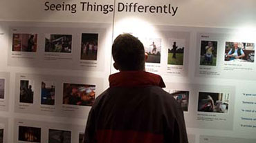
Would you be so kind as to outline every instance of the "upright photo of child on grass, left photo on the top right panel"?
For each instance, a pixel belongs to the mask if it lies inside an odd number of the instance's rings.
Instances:
[[[217,63],[217,41],[201,41],[200,65],[216,66]]]

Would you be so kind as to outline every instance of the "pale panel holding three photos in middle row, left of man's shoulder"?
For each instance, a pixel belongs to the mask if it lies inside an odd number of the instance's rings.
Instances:
[[[15,113],[84,119],[102,83],[101,78],[16,73]]]

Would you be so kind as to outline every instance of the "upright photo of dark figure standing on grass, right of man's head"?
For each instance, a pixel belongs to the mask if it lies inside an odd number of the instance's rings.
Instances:
[[[169,39],[168,62],[172,65],[183,65],[185,39]]]

